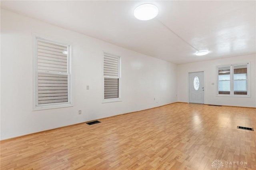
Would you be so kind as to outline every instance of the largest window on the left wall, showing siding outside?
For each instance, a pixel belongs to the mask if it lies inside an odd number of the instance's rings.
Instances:
[[[36,37],[34,110],[70,106],[70,45]]]

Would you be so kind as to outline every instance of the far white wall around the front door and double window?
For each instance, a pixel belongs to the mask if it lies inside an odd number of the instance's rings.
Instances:
[[[203,57],[203,56],[202,56]],[[251,97],[219,97],[217,95],[217,65],[250,62]],[[177,68],[178,101],[188,102],[188,72],[204,71],[205,104],[256,107],[256,54],[228,57],[210,61],[180,64]],[[214,83],[214,85],[212,85]]]

